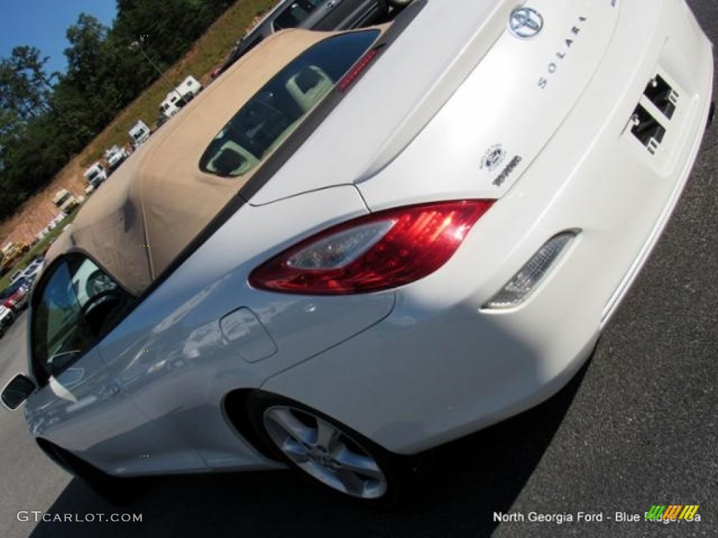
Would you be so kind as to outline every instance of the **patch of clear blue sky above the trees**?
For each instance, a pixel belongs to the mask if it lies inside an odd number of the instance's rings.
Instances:
[[[47,73],[65,71],[62,52],[69,47],[65,32],[78,22],[78,15],[94,16],[110,26],[117,14],[116,0],[0,0],[0,57],[13,47],[31,45],[49,56]]]

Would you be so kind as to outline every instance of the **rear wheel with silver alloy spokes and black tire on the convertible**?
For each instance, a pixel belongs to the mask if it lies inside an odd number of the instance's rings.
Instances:
[[[388,509],[414,491],[416,458],[393,454],[322,412],[266,392],[251,396],[247,411],[276,458],[345,499]]]

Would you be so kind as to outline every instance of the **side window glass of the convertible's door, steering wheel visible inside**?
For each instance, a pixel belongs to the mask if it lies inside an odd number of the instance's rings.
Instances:
[[[32,316],[32,361],[39,382],[90,349],[131,299],[87,258],[55,266]]]

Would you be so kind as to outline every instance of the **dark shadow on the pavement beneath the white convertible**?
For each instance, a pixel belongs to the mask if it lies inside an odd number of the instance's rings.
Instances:
[[[590,364],[590,362],[589,362]],[[31,536],[485,537],[541,461],[588,366],[544,404],[429,453],[432,472],[411,504],[372,511],[289,471],[153,478],[136,500],[111,506],[73,480]],[[57,522],[57,515],[72,521]],[[102,514],[102,516],[99,516]],[[109,522],[141,515],[141,522]],[[130,514],[126,516],[123,514]],[[105,522],[99,523],[103,519]]]

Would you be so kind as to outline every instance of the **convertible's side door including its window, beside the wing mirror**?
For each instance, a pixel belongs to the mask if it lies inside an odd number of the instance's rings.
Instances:
[[[98,342],[132,301],[92,260],[73,254],[43,275],[29,316],[38,387],[25,407],[30,430],[109,472],[131,456],[141,415]]]

